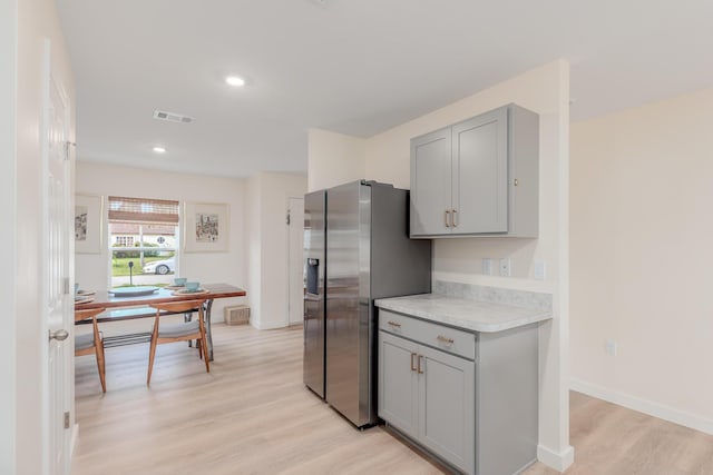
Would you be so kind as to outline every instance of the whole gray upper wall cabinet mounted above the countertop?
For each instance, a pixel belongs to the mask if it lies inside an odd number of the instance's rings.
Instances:
[[[516,105],[411,140],[411,237],[537,237],[539,118]]]

